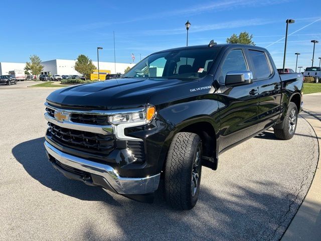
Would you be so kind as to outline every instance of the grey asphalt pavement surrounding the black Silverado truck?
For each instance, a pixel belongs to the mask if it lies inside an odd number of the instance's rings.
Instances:
[[[51,91],[0,89],[0,240],[279,240],[312,180],[318,144],[300,117],[290,141],[267,131],[204,168],[190,211],[168,207],[162,188],[145,204],[86,186],[47,160]]]

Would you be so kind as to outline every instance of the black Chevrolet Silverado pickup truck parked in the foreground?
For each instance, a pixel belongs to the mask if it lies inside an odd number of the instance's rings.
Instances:
[[[143,202],[164,185],[173,207],[191,209],[202,166],[216,170],[219,154],[271,127],[293,137],[302,86],[256,46],[160,51],[121,78],[52,92],[45,148],[68,178]]]

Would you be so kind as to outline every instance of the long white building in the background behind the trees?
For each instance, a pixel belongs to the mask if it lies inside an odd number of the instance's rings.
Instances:
[[[53,59],[49,61],[41,62],[41,65],[44,66],[42,74],[59,74],[59,75],[80,75],[74,67],[76,60],[67,60],[67,59]],[[98,67],[98,63],[93,61],[93,64]],[[132,67],[135,64],[133,63],[112,63],[112,62],[100,62],[99,69],[109,70],[110,73],[124,73],[124,70],[127,67]],[[26,67],[26,63],[8,63],[0,62],[0,75],[9,74],[9,71],[13,70],[23,70]],[[115,69],[116,67],[116,69]]]

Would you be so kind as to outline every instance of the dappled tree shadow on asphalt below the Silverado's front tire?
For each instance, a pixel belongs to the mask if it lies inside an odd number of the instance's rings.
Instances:
[[[110,207],[105,202],[101,210],[108,210],[102,212],[106,214],[106,225],[112,225],[114,231],[103,230],[91,219],[81,239],[279,240],[301,200],[287,192],[269,193],[271,187],[277,189],[275,183],[256,185],[266,190],[260,192],[235,184],[231,193],[221,195],[215,194],[215,188],[203,186],[197,205],[189,211],[171,209],[162,196],[157,196],[152,204],[125,199],[119,201],[121,205]]]

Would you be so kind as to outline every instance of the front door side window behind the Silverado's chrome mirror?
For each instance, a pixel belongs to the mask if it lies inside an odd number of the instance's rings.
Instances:
[[[232,50],[226,56],[219,76],[220,83],[225,83],[225,76],[227,72],[230,71],[248,71],[243,51],[241,49]]]

